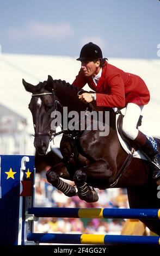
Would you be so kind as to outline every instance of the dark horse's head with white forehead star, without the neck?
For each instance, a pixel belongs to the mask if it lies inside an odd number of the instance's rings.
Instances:
[[[50,143],[51,131],[51,113],[54,111],[54,96],[52,89],[54,82],[51,76],[48,80],[40,82],[33,86],[22,80],[24,88],[27,92],[32,93],[32,99],[29,103],[29,109],[32,113],[35,139],[34,147],[38,154],[45,155]]]

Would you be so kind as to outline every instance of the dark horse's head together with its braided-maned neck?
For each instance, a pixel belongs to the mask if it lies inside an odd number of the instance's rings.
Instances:
[[[51,76],[48,76],[47,81],[40,82],[36,86],[33,86],[24,80],[22,80],[22,82],[27,92],[32,93],[29,109],[32,112],[35,130],[34,147],[38,154],[44,155],[46,154],[50,140],[53,137],[53,130],[56,131],[56,127],[59,124],[64,128],[63,125],[65,121],[67,124],[65,122],[64,130],[66,130],[66,126],[71,119],[71,117],[68,118],[67,113],[63,111],[64,107],[67,107],[69,113],[72,113],[72,111],[78,113],[78,116],[76,115],[78,122],[81,117],[81,111],[84,112],[87,109],[87,106],[82,101],[78,100],[77,93],[79,89],[65,81],[53,80]],[[51,124],[55,117],[55,115],[52,114],[54,110],[60,115],[58,115],[58,120],[55,118],[54,122]],[[63,117],[67,117],[67,119]],[[59,121],[61,121],[61,123],[59,123]]]

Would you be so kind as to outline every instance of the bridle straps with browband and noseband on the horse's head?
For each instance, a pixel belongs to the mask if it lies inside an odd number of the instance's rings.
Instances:
[[[80,92],[80,91],[79,91]],[[79,95],[79,92],[77,93],[77,95]],[[50,92],[48,92],[48,93],[35,93],[35,94],[32,94],[32,97],[36,97],[36,96],[46,96],[46,95],[53,95],[53,98],[54,98],[54,112],[57,112],[58,111],[58,105],[60,106],[60,107],[63,107],[62,105],[61,105],[61,103],[58,101],[58,100],[56,100],[56,94],[55,94],[55,92],[54,92],[54,89],[52,89],[52,93],[50,93]],[[91,105],[92,106],[92,105]],[[88,115],[88,109],[89,109],[89,107],[87,107],[86,109],[85,109],[85,115],[84,115],[84,118]],[[93,106],[92,106],[92,111],[91,112],[93,112]],[[78,121],[78,123],[79,123],[80,121]],[[65,135],[66,136],[68,136],[68,137],[71,137],[71,138],[75,138],[75,136],[74,135],[71,135],[70,133],[69,133],[69,130],[66,130],[66,131],[64,131],[64,130],[61,130],[60,132],[56,132],[55,130],[52,130],[52,129],[50,129],[50,131],[49,132],[35,132],[34,133],[34,137],[39,137],[39,136],[48,136],[49,137],[49,140],[50,140],[50,142],[56,137],[56,136],[58,136],[58,135],[60,135],[61,133],[65,133]],[[78,137],[78,136],[77,136]],[[54,142],[53,142],[54,143]]]

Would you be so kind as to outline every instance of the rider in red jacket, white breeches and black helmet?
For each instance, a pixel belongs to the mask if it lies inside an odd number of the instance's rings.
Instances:
[[[145,82],[137,75],[124,72],[108,64],[102,57],[99,46],[89,42],[82,47],[80,56],[81,70],[73,86],[82,88],[88,83],[96,93],[82,93],[79,99],[84,103],[96,102],[99,107],[126,107],[122,130],[152,162],[153,179],[160,179],[160,154],[152,143],[137,129],[141,111],[150,100]]]

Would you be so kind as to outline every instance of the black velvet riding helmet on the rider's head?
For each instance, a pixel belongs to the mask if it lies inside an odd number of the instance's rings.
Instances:
[[[101,48],[93,42],[89,42],[88,44],[82,47],[80,52],[80,56],[77,60],[85,61],[85,60],[95,60],[95,59],[102,59],[102,51]]]

